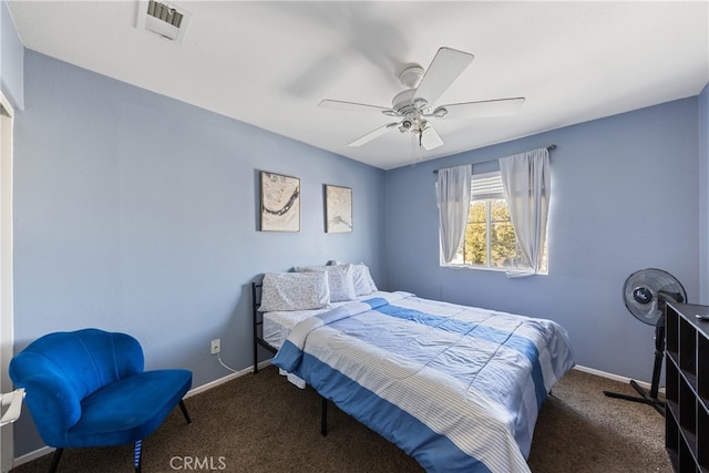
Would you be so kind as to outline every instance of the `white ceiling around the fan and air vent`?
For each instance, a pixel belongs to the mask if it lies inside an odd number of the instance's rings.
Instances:
[[[24,47],[389,169],[412,162],[395,128],[348,147],[387,116],[399,72],[441,47],[475,55],[440,103],[524,96],[515,116],[435,121],[445,156],[697,95],[709,82],[709,2],[175,1],[184,39],[137,29],[137,1],[18,1]]]

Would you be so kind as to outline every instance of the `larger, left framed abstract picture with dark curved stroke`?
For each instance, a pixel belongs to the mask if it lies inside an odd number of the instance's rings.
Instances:
[[[261,171],[261,232],[300,232],[300,179]]]

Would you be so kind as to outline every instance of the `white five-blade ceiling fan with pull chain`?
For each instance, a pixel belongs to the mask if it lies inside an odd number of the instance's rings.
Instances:
[[[516,114],[524,103],[524,97],[514,97],[435,106],[439,97],[473,62],[473,54],[451,48],[441,48],[435,53],[428,71],[418,64],[404,69],[399,74],[399,80],[405,89],[394,95],[391,107],[329,99],[322,100],[319,106],[354,112],[376,112],[397,119],[395,122],[387,123],[354,140],[348,146],[361,146],[398,127],[401,133],[413,133],[419,146],[427,151],[433,150],[442,146],[443,141],[429,120],[508,116]]]

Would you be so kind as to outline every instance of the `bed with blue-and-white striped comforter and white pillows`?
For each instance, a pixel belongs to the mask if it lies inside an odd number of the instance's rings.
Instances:
[[[255,350],[268,348],[294,383],[309,384],[429,472],[530,471],[541,405],[574,366],[563,327],[405,291],[356,290],[325,304],[308,286],[332,282],[322,273],[305,285],[281,278],[294,273],[265,275],[260,300],[254,285]],[[259,304],[273,299],[273,286],[299,301]]]

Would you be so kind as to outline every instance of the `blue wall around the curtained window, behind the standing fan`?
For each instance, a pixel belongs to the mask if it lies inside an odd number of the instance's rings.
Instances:
[[[654,327],[625,308],[621,288],[633,271],[658,267],[699,301],[697,116],[691,97],[388,172],[389,286],[554,319],[579,364],[649,381]],[[441,268],[432,171],[549,144],[548,276]]]

